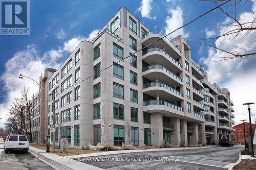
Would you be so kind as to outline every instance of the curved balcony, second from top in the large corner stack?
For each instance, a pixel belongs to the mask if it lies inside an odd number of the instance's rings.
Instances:
[[[182,65],[160,47],[152,47],[142,51],[142,60],[148,64],[158,63],[176,72],[182,71]]]

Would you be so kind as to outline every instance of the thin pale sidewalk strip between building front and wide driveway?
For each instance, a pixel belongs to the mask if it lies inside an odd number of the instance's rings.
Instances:
[[[105,155],[136,153],[136,152],[193,150],[193,149],[205,149],[205,148],[215,148],[215,147],[216,146],[212,145],[210,147],[161,148],[161,149],[159,148],[159,149],[147,149],[147,150],[121,150],[121,151],[108,151],[108,152],[98,152],[98,153],[91,153],[91,154],[71,155],[71,156],[66,156],[66,157],[70,158],[70,159],[77,159],[77,158],[82,158],[82,157],[105,156]]]

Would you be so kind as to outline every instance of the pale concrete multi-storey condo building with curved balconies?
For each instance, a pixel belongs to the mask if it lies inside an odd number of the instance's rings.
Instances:
[[[51,135],[54,106],[56,142],[68,138],[69,147],[217,144],[233,130],[228,89],[208,82],[186,40],[152,33],[125,7],[51,71],[39,122]]]

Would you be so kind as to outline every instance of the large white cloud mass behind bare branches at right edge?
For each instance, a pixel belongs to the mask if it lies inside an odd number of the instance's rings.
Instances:
[[[255,12],[256,1],[253,1],[252,12]],[[251,12],[243,12],[237,18],[239,21],[245,23],[253,20],[254,14]],[[230,19],[227,18],[223,23],[230,23]],[[245,25],[248,27],[248,25]],[[253,25],[255,27],[255,23]],[[236,29],[236,27],[220,27],[220,35],[230,31],[230,28]],[[237,51],[244,54],[246,49],[248,53],[255,50],[256,46],[256,32],[242,31],[239,35],[233,39],[235,35],[228,35],[220,37],[216,40],[215,44],[218,48],[221,48],[228,52]],[[231,100],[234,103],[234,120],[236,124],[241,123],[240,119],[248,120],[247,107],[243,106],[246,102],[255,102],[256,90],[256,55],[247,56],[237,59],[223,60],[219,62],[213,62],[221,60],[219,57],[229,56],[229,54],[214,48],[209,48],[208,57],[201,58],[200,61],[208,66],[208,78],[212,83],[218,83],[221,87],[227,87],[230,91]],[[256,111],[256,105],[251,106],[251,110]]]

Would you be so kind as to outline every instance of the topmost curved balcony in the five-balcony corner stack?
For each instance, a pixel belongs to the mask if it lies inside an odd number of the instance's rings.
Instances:
[[[147,45],[150,45],[152,42],[156,41],[154,43],[155,46],[159,46],[161,48],[165,47],[166,48],[165,51],[169,54],[172,54],[172,56],[175,59],[180,58],[181,57],[181,51],[179,50],[179,48],[172,41],[170,41],[168,38],[166,38],[166,37],[163,38],[163,37],[164,36],[162,36],[160,34],[148,33],[147,36],[144,36],[141,43],[142,43],[142,45],[147,46]]]

